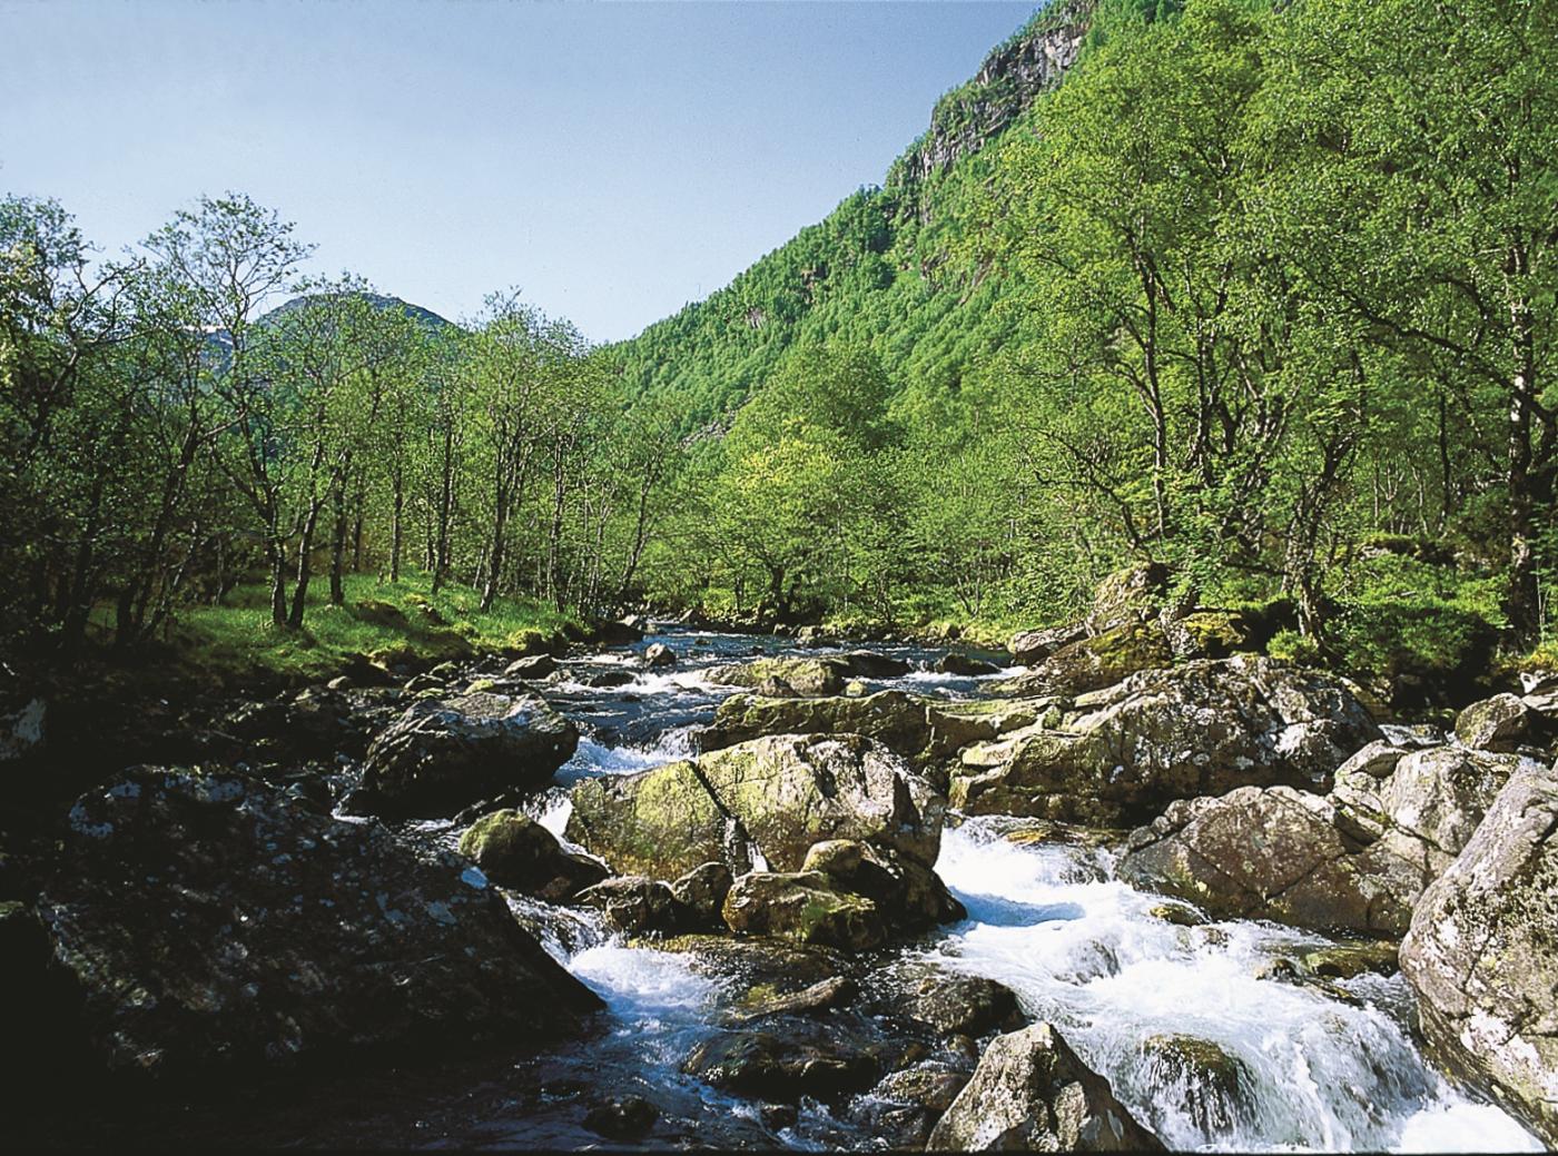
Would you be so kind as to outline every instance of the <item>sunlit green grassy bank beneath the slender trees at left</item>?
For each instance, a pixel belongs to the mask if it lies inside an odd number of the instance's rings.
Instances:
[[[330,678],[363,659],[425,667],[480,651],[539,651],[580,626],[548,603],[499,598],[483,614],[477,590],[446,584],[433,597],[430,587],[422,573],[399,583],[352,575],[346,603],[332,606],[329,581],[316,580],[302,629],[290,631],[271,623],[266,586],[240,586],[223,606],[179,611],[170,645],[192,671],[298,682]]]

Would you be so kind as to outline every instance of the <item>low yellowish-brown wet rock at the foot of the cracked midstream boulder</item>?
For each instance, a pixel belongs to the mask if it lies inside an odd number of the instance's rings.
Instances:
[[[724,897],[724,922],[745,935],[779,935],[848,952],[887,943],[876,904],[832,890],[816,871],[751,871]]]

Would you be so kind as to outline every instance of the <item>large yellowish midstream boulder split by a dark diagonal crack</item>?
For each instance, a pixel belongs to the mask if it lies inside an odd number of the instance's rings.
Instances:
[[[924,865],[941,798],[862,735],[774,735],[573,788],[567,837],[617,871],[676,879],[710,860],[796,871],[813,843],[854,838]]]

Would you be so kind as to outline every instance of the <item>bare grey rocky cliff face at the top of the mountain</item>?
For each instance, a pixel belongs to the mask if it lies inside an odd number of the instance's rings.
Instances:
[[[899,157],[888,185],[911,185],[977,153],[1059,81],[1092,26],[1097,0],[1055,0],[997,47],[968,84],[930,114],[930,129]]]

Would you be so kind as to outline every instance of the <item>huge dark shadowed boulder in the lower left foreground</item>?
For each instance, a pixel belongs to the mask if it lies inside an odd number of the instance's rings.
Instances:
[[[528,1041],[600,1006],[466,860],[235,773],[84,795],[37,913],[106,1063],[154,1077]]]

